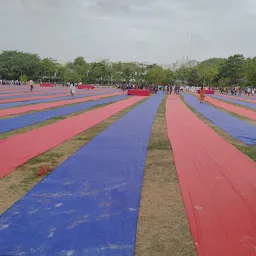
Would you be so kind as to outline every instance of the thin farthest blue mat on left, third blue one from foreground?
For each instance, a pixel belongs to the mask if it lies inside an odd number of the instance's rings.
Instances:
[[[90,97],[90,96],[95,96],[95,95],[106,94],[106,93],[109,93],[109,92],[98,92],[98,93],[93,93],[93,94],[83,94],[83,95],[76,95],[74,97],[73,96],[67,96],[67,97],[58,97],[58,98],[50,98],[50,99],[42,99],[42,100],[28,100],[28,101],[24,101],[24,102],[3,103],[3,104],[0,104],[0,109],[12,108],[12,107],[18,107],[18,106],[25,106],[25,105],[30,105],[30,104],[47,103],[47,102],[60,101],[60,100],[79,99],[79,98],[85,98],[85,97]],[[111,92],[114,93],[113,91],[111,91]]]

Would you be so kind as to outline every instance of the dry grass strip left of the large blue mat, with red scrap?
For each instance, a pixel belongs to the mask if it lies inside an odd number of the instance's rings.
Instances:
[[[16,201],[23,197],[31,188],[48,175],[47,173],[39,177],[37,176],[41,166],[48,166],[54,170],[68,157],[93,139],[97,134],[105,130],[109,125],[120,119],[143,101],[140,101],[111,118],[104,120],[46,153],[29,160],[26,164],[20,166],[8,176],[2,178],[0,180],[0,214],[10,208]]]

